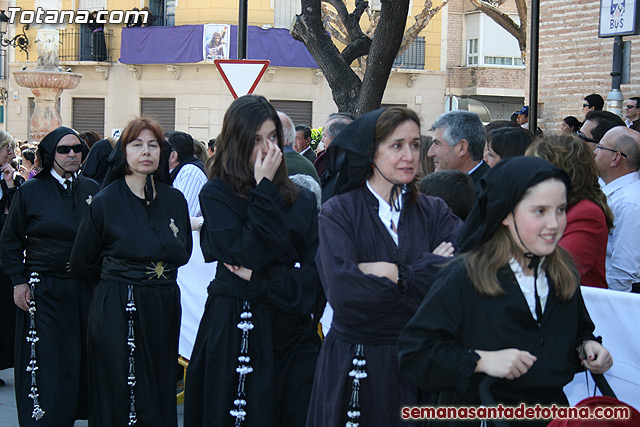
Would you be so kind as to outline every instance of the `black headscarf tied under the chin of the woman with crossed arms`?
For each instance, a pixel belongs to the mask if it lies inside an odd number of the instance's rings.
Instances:
[[[380,175],[393,184],[389,205],[399,209],[398,199],[404,184],[390,181],[373,162],[375,155],[376,122],[384,108],[370,111],[344,128],[327,148],[327,169],[334,179],[333,194],[342,194],[361,187],[365,179],[376,168]]]

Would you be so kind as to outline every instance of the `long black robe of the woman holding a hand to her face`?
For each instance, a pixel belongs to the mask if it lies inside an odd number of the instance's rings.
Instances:
[[[243,426],[301,426],[318,352],[315,198],[301,190],[287,205],[267,179],[241,198],[212,179],[200,206],[202,252],[218,268],[187,370],[184,425],[233,426],[231,412],[244,411]],[[253,270],[251,281],[223,263]],[[253,371],[240,375],[241,367]]]

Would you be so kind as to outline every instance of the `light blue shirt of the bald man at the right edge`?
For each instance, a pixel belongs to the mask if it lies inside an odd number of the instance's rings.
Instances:
[[[640,175],[632,172],[602,187],[613,211],[607,241],[606,274],[609,289],[631,292],[640,282]]]

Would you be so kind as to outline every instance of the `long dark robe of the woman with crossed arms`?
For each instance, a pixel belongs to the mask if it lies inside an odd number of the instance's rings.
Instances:
[[[396,246],[378,206],[362,186],[329,199],[320,213],[317,262],[334,314],[318,358],[308,427],[347,424],[358,347],[368,375],[359,385],[360,425],[403,426],[400,408],[423,399],[398,372],[396,341],[447,262],[431,252],[443,241],[454,241],[462,222],[440,199],[420,195],[413,203],[405,197]],[[358,268],[375,261],[398,264],[403,283]]]

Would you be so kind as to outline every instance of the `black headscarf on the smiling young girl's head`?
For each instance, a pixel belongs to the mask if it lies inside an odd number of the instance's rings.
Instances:
[[[567,173],[538,157],[517,156],[500,161],[480,179],[480,194],[458,235],[460,252],[470,250],[488,241],[513,212],[524,193],[549,178],[557,178],[567,187],[571,181]]]

